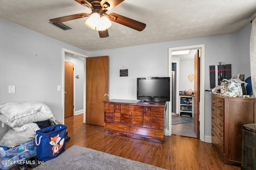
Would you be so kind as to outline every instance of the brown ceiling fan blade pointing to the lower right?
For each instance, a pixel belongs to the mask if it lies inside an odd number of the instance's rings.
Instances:
[[[139,21],[136,21],[136,20],[132,20],[130,18],[127,18],[125,16],[121,16],[119,14],[111,13],[111,14],[109,14],[109,16],[110,16],[109,17],[110,21],[120,23],[122,25],[125,25],[126,27],[136,29],[137,31],[142,31],[146,27],[145,23],[142,23],[142,22],[139,22]],[[116,18],[116,19],[114,19],[114,18]]]

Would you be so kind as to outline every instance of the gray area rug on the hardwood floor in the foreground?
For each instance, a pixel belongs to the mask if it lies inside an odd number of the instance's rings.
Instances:
[[[73,145],[33,170],[164,170],[156,166]]]

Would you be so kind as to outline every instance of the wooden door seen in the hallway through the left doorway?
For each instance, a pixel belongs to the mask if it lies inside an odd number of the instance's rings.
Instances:
[[[64,117],[74,115],[74,63],[65,61]]]

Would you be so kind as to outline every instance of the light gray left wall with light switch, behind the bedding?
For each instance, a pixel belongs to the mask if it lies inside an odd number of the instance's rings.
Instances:
[[[62,48],[88,52],[2,19],[0,37],[0,104],[37,100],[62,121]],[[8,93],[9,85],[16,93]],[[0,127],[0,139],[6,130]]]

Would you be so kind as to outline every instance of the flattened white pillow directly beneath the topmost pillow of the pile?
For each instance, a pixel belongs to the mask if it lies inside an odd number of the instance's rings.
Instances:
[[[21,117],[19,119],[15,119],[14,121],[8,121],[8,117],[6,115],[0,114],[0,121],[4,122],[6,125],[10,127],[19,127],[25,125],[27,123],[37,122],[37,121],[45,121],[54,117],[52,113],[44,113],[42,111],[37,111],[32,115],[28,115],[25,117]]]

